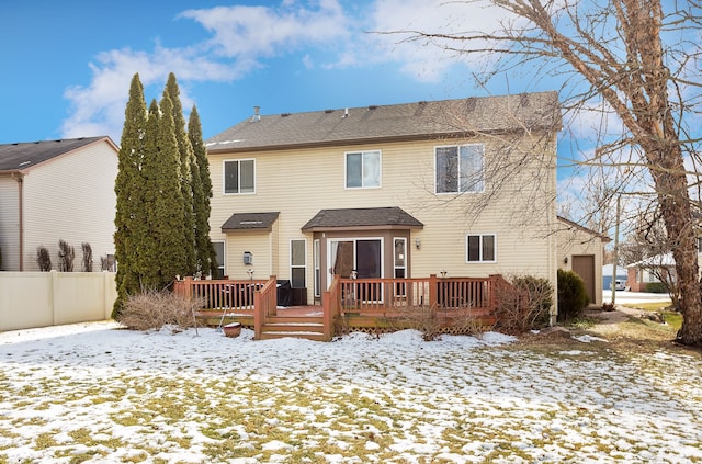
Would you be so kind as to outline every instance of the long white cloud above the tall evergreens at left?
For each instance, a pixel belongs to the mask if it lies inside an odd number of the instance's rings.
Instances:
[[[158,86],[154,94],[146,95],[147,104],[160,98],[168,73],[174,72],[188,110],[192,101],[185,82],[231,81],[260,68],[262,58],[310,45],[325,46],[347,34],[347,19],[336,0],[321,0],[316,9],[286,0],[280,8],[218,7],[188,10],[182,16],[202,24],[212,32],[212,38],[184,48],[157,44],[151,52],[123,48],[99,54],[89,65],[91,82],[64,93],[70,102],[70,115],[61,125],[61,136],[106,134],[118,143],[129,82],[136,72],[145,89]],[[312,57],[304,60],[307,66],[312,63]]]

